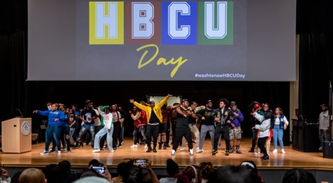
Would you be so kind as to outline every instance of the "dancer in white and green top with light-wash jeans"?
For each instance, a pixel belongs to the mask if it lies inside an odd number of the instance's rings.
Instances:
[[[113,117],[111,108],[106,107],[105,112],[101,111],[102,106],[98,107],[98,113],[103,117],[103,122],[104,122],[104,127],[100,129],[97,134],[95,135],[95,142],[94,142],[94,150],[93,152],[99,152],[100,147],[99,147],[99,140],[107,134],[107,144],[110,152],[114,152],[114,149],[112,148],[112,134],[113,134]]]

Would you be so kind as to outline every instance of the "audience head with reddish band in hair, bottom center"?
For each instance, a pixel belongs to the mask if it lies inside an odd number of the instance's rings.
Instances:
[[[177,183],[200,183],[201,177],[201,171],[196,165],[186,166],[181,173],[175,175],[175,178],[177,178]]]

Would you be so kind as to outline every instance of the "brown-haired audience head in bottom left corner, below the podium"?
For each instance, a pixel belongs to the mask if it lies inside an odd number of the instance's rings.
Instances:
[[[36,168],[27,168],[19,176],[19,183],[46,183],[47,180],[41,170]]]

